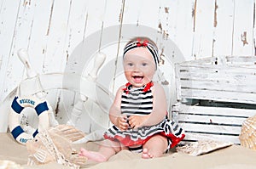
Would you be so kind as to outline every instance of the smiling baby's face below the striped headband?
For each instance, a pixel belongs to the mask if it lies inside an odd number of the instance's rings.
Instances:
[[[154,76],[155,64],[148,48],[133,48],[125,54],[125,77],[134,87],[143,87],[151,82]]]

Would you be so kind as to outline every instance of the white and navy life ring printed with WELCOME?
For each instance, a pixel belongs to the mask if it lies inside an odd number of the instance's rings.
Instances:
[[[26,133],[20,127],[20,113],[24,108],[32,107],[36,110],[39,122],[38,122],[38,129],[36,129],[33,133]],[[11,109],[9,112],[9,130],[15,140],[20,144],[26,144],[27,140],[31,140],[34,138],[38,131],[40,132],[43,129],[49,127],[49,107],[45,100],[40,100],[36,97],[26,97],[26,98],[19,98],[15,97],[11,104]]]

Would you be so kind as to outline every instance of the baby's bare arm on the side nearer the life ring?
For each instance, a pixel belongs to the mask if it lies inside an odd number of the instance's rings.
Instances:
[[[121,96],[124,92],[122,88],[123,87],[119,87],[115,95],[115,99],[109,110],[109,119],[116,127],[124,131],[129,127],[129,124],[127,123],[126,115],[121,114]]]

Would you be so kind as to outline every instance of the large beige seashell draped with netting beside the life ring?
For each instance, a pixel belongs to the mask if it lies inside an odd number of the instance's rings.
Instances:
[[[84,138],[84,133],[72,126],[59,125],[41,131],[26,143],[28,166],[47,164],[56,161],[63,166],[77,169],[87,158],[79,156],[72,149],[73,141]]]

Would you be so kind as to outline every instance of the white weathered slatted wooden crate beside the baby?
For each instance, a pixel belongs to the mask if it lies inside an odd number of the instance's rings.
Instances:
[[[210,138],[240,144],[242,122],[256,114],[255,56],[183,62],[176,65],[176,82],[182,104],[172,115],[186,131],[183,143]],[[190,99],[195,105],[184,102]]]

